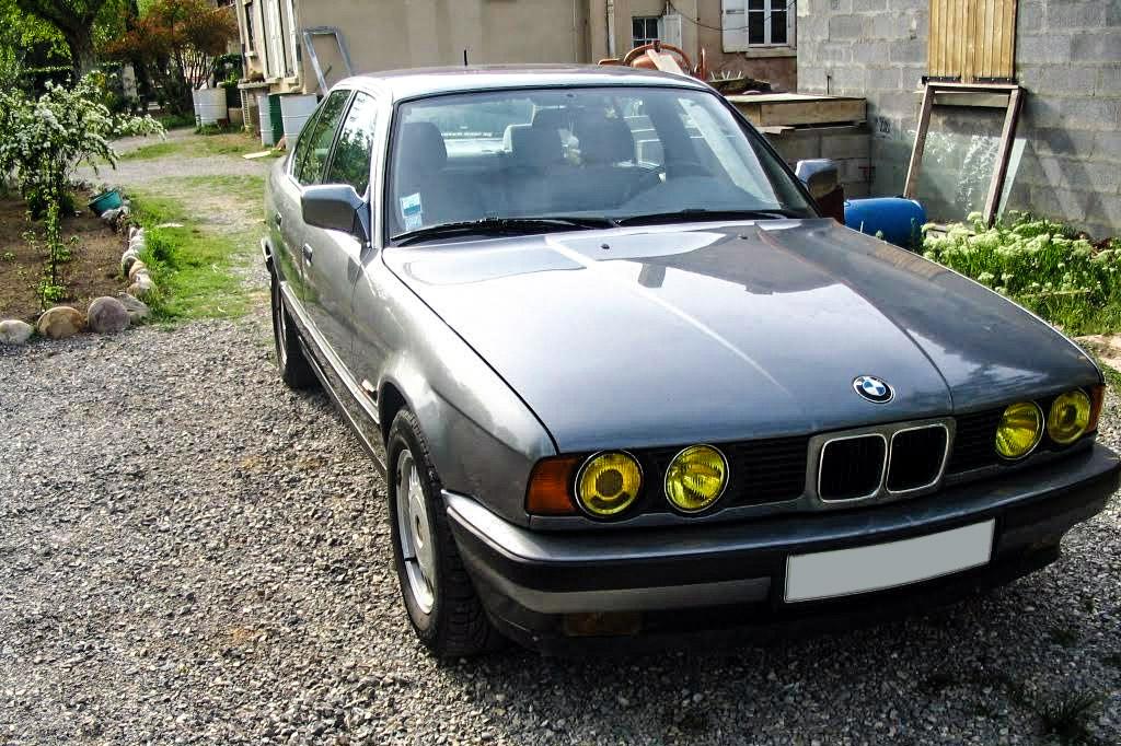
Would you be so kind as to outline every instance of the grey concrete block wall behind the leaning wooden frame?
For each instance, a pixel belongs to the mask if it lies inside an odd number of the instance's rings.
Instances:
[[[928,0],[798,3],[799,90],[868,99],[877,195],[904,187],[928,10]],[[1121,234],[1121,0],[1020,0],[1016,71],[1028,95],[1006,207]],[[962,218],[983,199],[1002,110],[935,111],[919,196],[947,213],[938,218]]]

